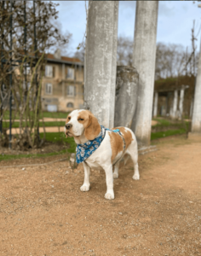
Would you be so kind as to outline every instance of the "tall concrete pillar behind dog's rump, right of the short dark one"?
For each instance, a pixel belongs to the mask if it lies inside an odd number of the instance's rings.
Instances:
[[[136,1],[133,66],[139,73],[137,109],[131,129],[140,146],[151,137],[158,1]]]

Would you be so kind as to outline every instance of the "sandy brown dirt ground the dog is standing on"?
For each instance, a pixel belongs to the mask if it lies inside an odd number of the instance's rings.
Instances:
[[[161,140],[139,181],[122,165],[113,201],[103,172],[81,192],[67,161],[1,168],[63,157],[0,162],[0,255],[201,255],[201,143]]]

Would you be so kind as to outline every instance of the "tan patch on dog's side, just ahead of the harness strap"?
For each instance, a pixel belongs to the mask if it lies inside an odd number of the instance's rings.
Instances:
[[[118,155],[118,153],[123,152],[123,139],[116,132],[109,132],[111,148],[112,148],[112,160]]]

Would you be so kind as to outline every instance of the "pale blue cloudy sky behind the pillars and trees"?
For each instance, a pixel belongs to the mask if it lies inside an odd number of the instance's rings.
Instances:
[[[72,56],[78,44],[83,42],[86,28],[85,1],[52,1],[59,3],[58,22],[62,32],[72,33],[66,55]],[[104,3],[104,2],[103,2]],[[157,42],[165,44],[181,44],[191,48],[192,23],[195,20],[195,36],[198,36],[201,26],[201,8],[195,1],[159,1]],[[135,1],[119,1],[118,36],[134,38]],[[198,33],[199,32],[199,33]]]

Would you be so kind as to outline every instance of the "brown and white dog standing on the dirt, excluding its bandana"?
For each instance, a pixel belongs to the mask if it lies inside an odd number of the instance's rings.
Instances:
[[[106,136],[100,147],[83,161],[84,180],[81,191],[89,191],[90,169],[104,170],[106,172],[106,199],[114,199],[113,178],[118,178],[119,160],[124,156],[124,162],[130,157],[134,163],[133,179],[140,179],[138,171],[137,142],[133,131],[127,127],[113,128],[121,131],[123,138],[116,132],[106,131]],[[65,126],[66,137],[74,137],[77,144],[94,140],[100,134],[100,124],[95,116],[88,110],[74,110],[69,113]],[[125,145],[124,145],[125,143]],[[124,147],[123,147],[124,145]],[[117,162],[118,161],[118,162]],[[114,172],[112,167],[114,165]]]

